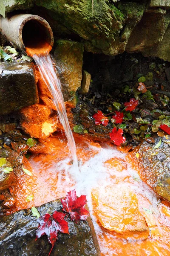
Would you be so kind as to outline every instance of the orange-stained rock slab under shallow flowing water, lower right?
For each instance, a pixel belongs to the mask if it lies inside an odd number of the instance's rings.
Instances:
[[[92,198],[102,227],[125,239],[147,239],[149,229],[139,212],[138,200],[125,183],[96,190]]]

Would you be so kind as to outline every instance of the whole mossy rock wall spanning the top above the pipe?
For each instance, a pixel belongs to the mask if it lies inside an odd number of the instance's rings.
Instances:
[[[126,50],[170,59],[164,56],[170,24],[167,0],[2,0],[0,3],[0,14],[4,17],[19,9],[29,9],[30,13],[44,17],[56,38],[79,41],[88,52],[117,55]],[[157,47],[156,52],[153,47]]]

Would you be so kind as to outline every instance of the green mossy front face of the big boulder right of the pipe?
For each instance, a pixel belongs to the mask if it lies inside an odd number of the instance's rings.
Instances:
[[[72,32],[89,41],[91,48],[112,54],[111,44],[122,29],[124,19],[108,0],[37,0],[35,3],[53,11],[54,20],[59,20]]]

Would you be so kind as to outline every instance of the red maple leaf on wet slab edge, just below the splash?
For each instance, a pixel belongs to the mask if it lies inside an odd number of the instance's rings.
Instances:
[[[87,203],[86,195],[77,198],[76,190],[73,189],[67,193],[66,197],[61,199],[63,211],[70,214],[72,221],[86,220],[89,212],[85,209]]]

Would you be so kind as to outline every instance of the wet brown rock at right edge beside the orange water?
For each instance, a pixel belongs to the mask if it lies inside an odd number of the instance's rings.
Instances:
[[[162,198],[170,201],[170,135],[161,138],[161,145],[154,149],[160,141],[144,142],[128,155],[140,177]],[[136,157],[139,153],[139,158]]]

